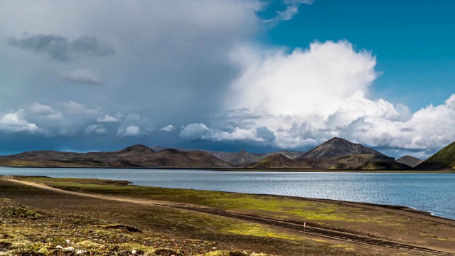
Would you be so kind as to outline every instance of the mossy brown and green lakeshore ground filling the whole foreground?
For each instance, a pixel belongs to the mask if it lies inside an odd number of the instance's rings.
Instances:
[[[9,178],[0,179],[0,198],[7,198],[0,201],[0,255],[455,253],[455,220],[410,208],[98,179]]]

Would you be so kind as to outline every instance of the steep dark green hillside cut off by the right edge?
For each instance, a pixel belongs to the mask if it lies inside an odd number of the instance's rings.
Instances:
[[[429,159],[415,166],[416,170],[441,170],[441,169],[455,169],[455,142],[437,151],[436,154],[429,157]]]

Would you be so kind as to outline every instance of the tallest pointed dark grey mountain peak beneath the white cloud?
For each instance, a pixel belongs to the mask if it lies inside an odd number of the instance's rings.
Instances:
[[[377,156],[385,156],[385,154],[370,149],[362,144],[348,142],[346,139],[333,138],[327,142],[316,146],[314,149],[306,151],[298,157],[298,159],[331,159],[336,156],[347,156],[354,154],[373,154]]]

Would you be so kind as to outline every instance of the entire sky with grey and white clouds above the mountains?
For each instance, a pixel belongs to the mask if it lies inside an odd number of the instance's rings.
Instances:
[[[455,1],[5,0],[0,154],[455,140]]]

